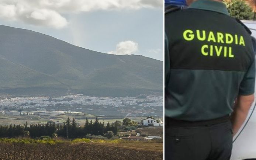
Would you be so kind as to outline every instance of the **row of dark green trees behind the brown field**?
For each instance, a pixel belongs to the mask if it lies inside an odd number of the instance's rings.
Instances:
[[[21,125],[0,125],[0,138],[13,138],[18,136],[25,136],[30,138],[37,138],[41,136],[61,136],[64,138],[84,138],[86,135],[101,135],[105,136],[107,133],[112,132],[117,135],[118,122],[113,124],[98,121],[98,118],[94,122],[92,120],[86,122],[83,127],[77,126],[75,118],[68,119],[62,124],[55,124],[55,122],[47,122],[47,124],[31,124],[28,126],[27,121],[24,126]]]

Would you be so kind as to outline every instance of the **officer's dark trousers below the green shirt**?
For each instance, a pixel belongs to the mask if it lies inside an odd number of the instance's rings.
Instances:
[[[165,120],[165,160],[229,160],[232,125],[229,120],[215,124],[177,125]]]

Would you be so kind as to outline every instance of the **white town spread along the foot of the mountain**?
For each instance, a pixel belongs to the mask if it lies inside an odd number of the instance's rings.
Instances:
[[[90,97],[82,94],[62,97],[0,98],[0,114],[18,115],[20,110],[45,113],[75,113],[96,116],[159,116],[163,114],[163,97]],[[17,109],[15,111],[15,109]],[[33,113],[34,114],[34,113]]]

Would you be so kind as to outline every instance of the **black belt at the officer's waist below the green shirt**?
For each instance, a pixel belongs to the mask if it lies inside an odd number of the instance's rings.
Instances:
[[[165,117],[167,126],[211,126],[230,121],[230,116],[225,115],[220,118],[204,120],[204,121],[181,121],[170,117]]]

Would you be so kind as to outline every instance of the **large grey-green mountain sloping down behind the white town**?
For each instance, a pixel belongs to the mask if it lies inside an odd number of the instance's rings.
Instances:
[[[52,36],[3,25],[0,75],[0,94],[23,96],[162,94],[163,88],[160,60],[91,51]]]

